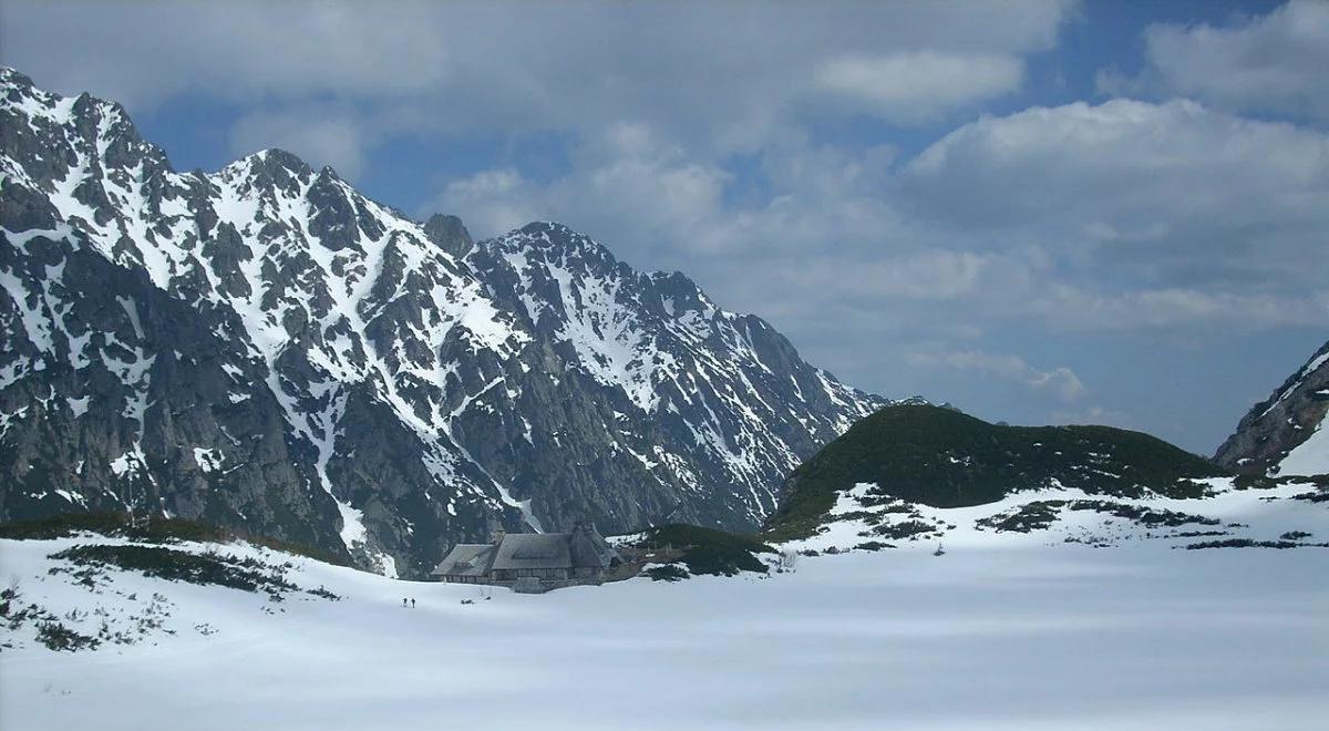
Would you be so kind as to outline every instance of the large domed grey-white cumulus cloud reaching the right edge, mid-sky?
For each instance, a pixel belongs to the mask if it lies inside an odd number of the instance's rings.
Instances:
[[[898,183],[910,211],[975,246],[1034,245],[1104,295],[1204,314],[1239,310],[1215,304],[1225,292],[1244,307],[1325,284],[1304,262],[1329,225],[1329,136],[1288,124],[1189,101],[1034,108],[946,134]]]

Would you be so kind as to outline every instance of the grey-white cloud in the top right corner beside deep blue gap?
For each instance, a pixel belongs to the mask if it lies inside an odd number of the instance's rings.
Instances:
[[[1181,94],[1215,106],[1329,121],[1329,3],[1292,0],[1233,27],[1152,25],[1147,70],[1099,74],[1108,93]]]

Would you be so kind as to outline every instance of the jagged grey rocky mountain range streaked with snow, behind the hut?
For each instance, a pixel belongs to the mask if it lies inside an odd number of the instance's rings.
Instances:
[[[136,508],[417,573],[504,525],[755,528],[888,401],[682,274],[474,243],[280,150],[177,173],[0,70],[0,520]]]

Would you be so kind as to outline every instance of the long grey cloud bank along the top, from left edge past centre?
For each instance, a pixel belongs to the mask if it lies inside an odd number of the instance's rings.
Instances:
[[[9,1],[0,48],[44,85],[90,88],[132,110],[186,92],[275,108],[331,97],[393,106],[361,121],[380,132],[594,136],[639,120],[692,145],[758,149],[813,106],[817,69],[836,58],[889,52],[897,70],[941,73],[941,89],[859,74],[852,86],[888,114],[989,98],[1023,54],[1055,43],[1070,7]],[[983,62],[938,61],[957,56]]]

